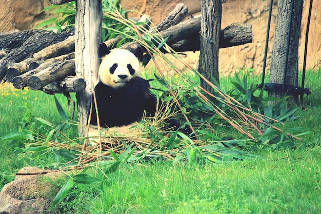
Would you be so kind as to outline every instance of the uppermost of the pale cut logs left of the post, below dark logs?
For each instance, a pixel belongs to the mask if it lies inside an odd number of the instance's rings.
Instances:
[[[21,75],[27,72],[27,68],[29,64],[40,61],[50,59],[51,57],[61,56],[63,54],[67,54],[73,52],[75,50],[75,38],[74,36],[70,36],[67,40],[50,45],[41,51],[34,53],[32,56],[28,57],[26,60],[15,63],[8,68],[7,79],[9,82],[12,82],[12,79],[15,76]]]

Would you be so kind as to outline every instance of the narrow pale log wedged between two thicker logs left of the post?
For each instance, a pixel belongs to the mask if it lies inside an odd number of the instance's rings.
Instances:
[[[75,58],[75,53],[72,52],[72,53],[57,56],[48,60],[32,62],[28,66],[28,70],[29,70],[28,72],[21,75],[16,75],[15,69],[9,69],[7,71],[7,75],[15,76],[12,79],[12,85],[17,89],[21,89],[27,86],[27,82],[29,78],[34,74],[41,72],[42,70],[50,67],[54,63],[63,62],[65,60],[70,60],[74,58]],[[14,73],[11,73],[11,72],[14,72]]]

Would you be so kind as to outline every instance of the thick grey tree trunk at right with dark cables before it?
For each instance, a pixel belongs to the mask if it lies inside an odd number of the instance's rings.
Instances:
[[[288,52],[288,62],[286,65],[288,29],[290,24],[291,0],[279,0],[276,16],[270,83],[285,84],[281,87],[272,87],[269,89],[269,96],[282,98],[287,93],[286,86],[298,85],[298,43],[300,37],[300,25],[302,20],[303,0],[294,1],[292,12],[292,25],[290,33],[290,43]],[[286,66],[286,76],[284,77]],[[297,99],[297,94],[291,94]]]

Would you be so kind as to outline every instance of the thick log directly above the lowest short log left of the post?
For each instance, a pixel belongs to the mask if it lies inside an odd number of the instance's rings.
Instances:
[[[49,83],[63,80],[65,76],[75,75],[75,60],[55,63],[45,70],[30,76],[27,85],[31,90],[39,90]]]

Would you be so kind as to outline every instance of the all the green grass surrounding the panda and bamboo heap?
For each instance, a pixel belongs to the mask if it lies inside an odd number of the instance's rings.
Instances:
[[[242,75],[240,75],[242,76]],[[233,77],[220,80],[224,90],[233,88]],[[260,76],[249,74],[250,83]],[[321,213],[321,68],[308,71],[306,110],[285,127],[308,127],[304,146],[296,149],[254,150],[262,159],[229,164],[205,163],[196,167],[162,162],[122,163],[101,183],[76,184],[54,212],[60,213]],[[0,85],[0,189],[24,166],[43,167],[54,154],[24,153],[21,141],[1,140],[11,132],[24,131],[34,117],[61,123],[54,98],[40,91],[15,90]],[[63,95],[57,99],[67,111]],[[228,129],[226,129],[228,130]],[[106,169],[101,168],[102,171]],[[91,169],[95,170],[95,168]],[[64,181],[63,181],[64,182]],[[62,181],[54,183],[53,199]]]

